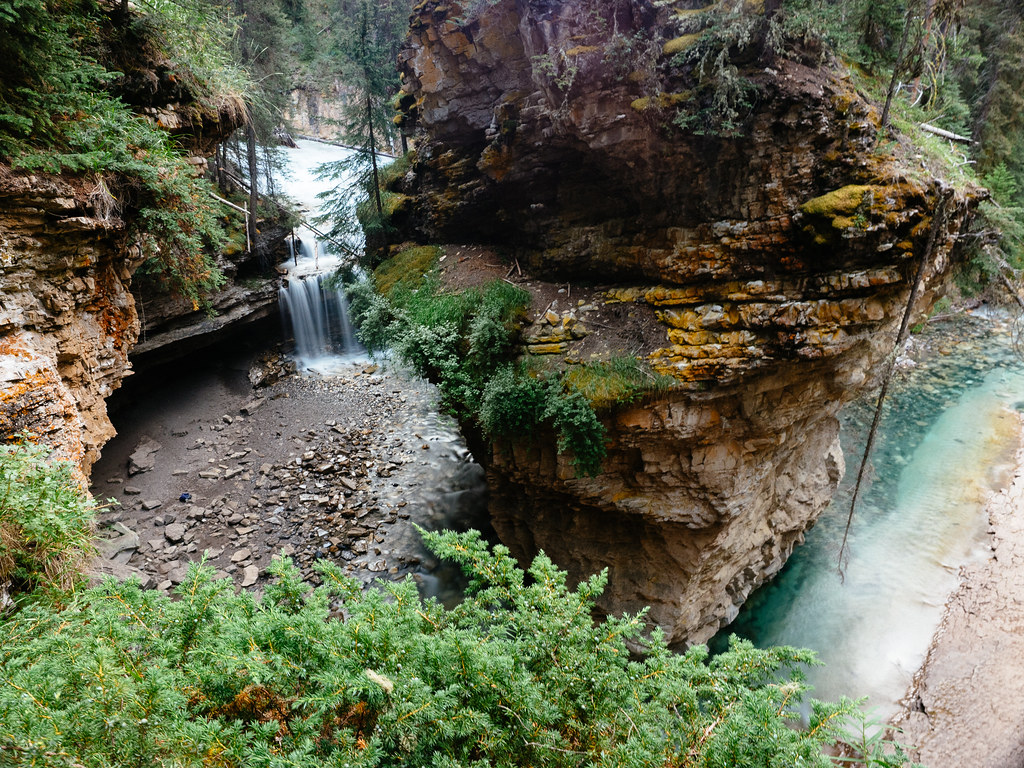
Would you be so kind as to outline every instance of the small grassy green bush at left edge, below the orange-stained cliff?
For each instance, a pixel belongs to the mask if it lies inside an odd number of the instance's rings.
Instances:
[[[0,446],[0,609],[32,590],[68,590],[92,552],[96,505],[49,453],[27,437]]]

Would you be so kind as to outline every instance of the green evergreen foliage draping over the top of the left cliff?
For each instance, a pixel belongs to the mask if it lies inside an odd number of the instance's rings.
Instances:
[[[171,3],[141,6],[145,13],[93,0],[0,1],[0,160],[92,175],[97,215],[138,210],[135,234],[144,251],[198,302],[222,280],[208,255],[223,239],[219,210],[172,137],[121,99],[121,75],[102,61],[122,40],[146,46],[137,52],[156,59],[172,48],[190,53],[193,61],[175,65],[179,77],[214,116],[231,109],[234,97],[224,93],[223,79],[201,80],[197,73],[222,78],[232,71],[201,5],[185,14]],[[172,33],[190,44],[173,45],[166,39]],[[227,85],[240,80],[232,75]]]

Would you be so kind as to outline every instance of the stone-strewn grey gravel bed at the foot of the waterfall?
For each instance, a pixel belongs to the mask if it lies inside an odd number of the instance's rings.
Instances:
[[[258,587],[284,553],[307,571],[326,557],[365,582],[436,582],[412,523],[478,525],[485,492],[433,388],[364,360],[254,389],[248,365],[223,360],[115,415],[93,470],[94,496],[119,503],[100,516],[99,569],[166,590],[205,558]]]

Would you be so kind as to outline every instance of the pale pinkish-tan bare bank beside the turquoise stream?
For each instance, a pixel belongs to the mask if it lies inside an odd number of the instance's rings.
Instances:
[[[964,569],[895,718],[929,768],[1024,765],[1024,421],[1014,474],[988,506],[991,557]]]

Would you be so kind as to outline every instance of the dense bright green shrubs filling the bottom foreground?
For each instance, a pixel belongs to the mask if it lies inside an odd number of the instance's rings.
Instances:
[[[639,617],[475,532],[427,534],[471,579],[445,610],[412,580],[262,597],[194,566],[176,599],[108,582],[0,624],[0,763],[24,766],[827,766],[849,700],[810,703],[810,651],[670,652]],[[627,643],[643,643],[643,660]],[[896,764],[896,763],[894,763]],[[901,763],[900,763],[901,764]]]

